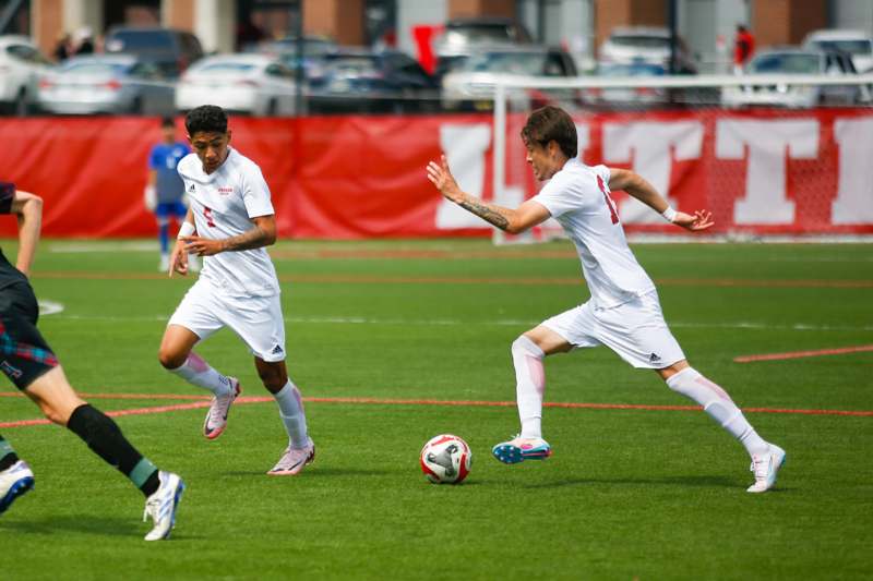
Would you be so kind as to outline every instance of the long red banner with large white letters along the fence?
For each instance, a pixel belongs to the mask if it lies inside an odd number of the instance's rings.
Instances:
[[[536,189],[507,122],[512,201]],[[873,233],[873,111],[603,113],[577,119],[587,164],[632,168],[683,210],[709,208],[717,232]],[[181,121],[180,121],[181,128]],[[424,167],[445,152],[463,189],[492,198],[490,114],[232,118],[231,144],[261,166],[283,238],[489,235],[444,202]],[[183,133],[180,129],[180,133]],[[0,120],[0,180],[45,201],[47,237],[146,237],[148,118]],[[671,231],[618,194],[629,231]],[[12,220],[0,234],[12,235]]]

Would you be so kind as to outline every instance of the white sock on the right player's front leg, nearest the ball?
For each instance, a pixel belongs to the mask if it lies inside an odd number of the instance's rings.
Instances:
[[[542,395],[546,390],[545,353],[537,343],[522,335],[512,343],[515,365],[515,397],[523,438],[542,437]]]

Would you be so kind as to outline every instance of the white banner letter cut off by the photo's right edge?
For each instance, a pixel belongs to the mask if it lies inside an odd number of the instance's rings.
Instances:
[[[834,123],[839,145],[839,181],[830,223],[873,222],[873,119],[839,119]]]

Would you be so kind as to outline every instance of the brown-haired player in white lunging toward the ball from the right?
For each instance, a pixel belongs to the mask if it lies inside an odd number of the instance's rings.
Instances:
[[[589,167],[577,159],[576,128],[562,109],[534,111],[522,130],[527,162],[537,180],[549,182],[515,209],[488,204],[463,192],[442,157],[428,165],[428,179],[447,199],[510,233],[523,232],[555,218],[573,241],[591,298],[585,304],[543,320],[512,344],[522,433],[498,444],[498,460],[514,464],[545,459],[551,447],[542,439],[546,375],[542,359],[579,348],[609,347],[638,368],[655,370],[670,389],[691,398],[733,435],[752,457],[755,482],[748,491],[763,493],[776,483],[785,450],[757,435],[730,396],[691,367],[661,314],[655,285],[627,246],[610,197],[624,190],[668,221],[691,231],[713,226],[708,211],[678,211],[636,173]]]

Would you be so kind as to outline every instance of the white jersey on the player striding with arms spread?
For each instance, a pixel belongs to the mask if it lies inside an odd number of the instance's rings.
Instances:
[[[608,167],[571,159],[533,197],[575,244],[597,307],[622,304],[655,289],[627,246],[609,192]]]

